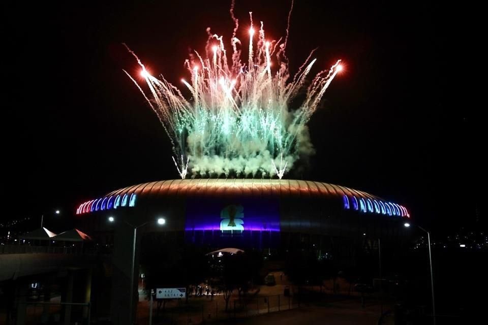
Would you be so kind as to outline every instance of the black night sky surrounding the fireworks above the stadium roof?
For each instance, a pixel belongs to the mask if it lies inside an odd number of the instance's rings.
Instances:
[[[285,35],[289,1],[236,2],[241,40],[248,40],[249,11],[264,21],[267,36]],[[76,204],[109,190],[175,178],[163,128],[122,71],[137,66],[121,43],[179,86],[183,61],[189,48],[202,50],[206,27],[229,41],[229,5],[10,8],[3,110],[11,125],[3,130],[3,160],[4,198],[14,204],[0,218],[55,207],[68,218]],[[417,222],[437,231],[445,228],[439,224],[474,220],[482,198],[469,188],[481,170],[481,122],[455,105],[448,90],[457,63],[447,54],[454,28],[447,17],[445,8],[428,2],[295,2],[287,52],[292,71],[319,47],[317,67],[342,58],[346,72],[310,123],[317,154],[293,177],[370,191],[410,207]]]

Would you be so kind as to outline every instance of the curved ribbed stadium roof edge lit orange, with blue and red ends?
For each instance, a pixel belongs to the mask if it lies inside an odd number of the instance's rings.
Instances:
[[[143,197],[158,196],[314,196],[341,200],[345,210],[410,218],[407,208],[352,188],[291,179],[173,179],[141,183],[114,190],[80,204],[76,214],[135,207]]]

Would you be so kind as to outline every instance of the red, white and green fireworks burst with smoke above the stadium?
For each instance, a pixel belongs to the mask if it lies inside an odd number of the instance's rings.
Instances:
[[[190,171],[192,177],[277,175],[281,179],[298,159],[313,153],[307,122],[342,69],[341,60],[307,84],[316,62],[312,52],[291,78],[285,55],[288,28],[284,42],[269,40],[262,22],[259,30],[253,27],[250,13],[249,58],[243,63],[233,6],[231,16],[235,23],[230,40],[232,55],[228,56],[223,37],[207,29],[204,55],[195,51],[194,58],[185,61],[191,78],[181,83],[188,88],[190,98],[163,76],[151,76],[131,50],[148,90],[128,75],[161,121],[174,156],[181,157],[177,161],[173,156],[181,178]],[[299,92],[305,96],[297,105]],[[297,108],[291,109],[294,100]]]

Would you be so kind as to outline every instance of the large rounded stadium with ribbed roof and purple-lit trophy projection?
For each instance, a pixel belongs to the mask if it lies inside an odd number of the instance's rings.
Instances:
[[[369,238],[399,238],[400,223],[410,218],[404,206],[360,190],[273,179],[143,183],[84,202],[76,214],[77,226],[102,242],[110,242],[117,220],[125,220],[134,227],[148,222],[144,227],[147,232],[177,233],[186,242],[209,249],[280,251],[295,241],[307,242],[318,247],[319,258],[321,251],[327,250],[320,247],[326,242],[324,237],[351,243],[362,241],[365,234]],[[156,218],[164,218],[164,226],[150,222]]]

